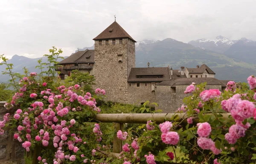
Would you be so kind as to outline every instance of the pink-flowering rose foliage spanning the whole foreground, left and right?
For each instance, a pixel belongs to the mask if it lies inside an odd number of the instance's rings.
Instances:
[[[247,79],[250,89],[231,81],[223,93],[217,89],[206,90],[205,83],[192,83],[184,92],[189,94],[184,105],[172,118],[159,125],[151,119],[137,129],[115,134],[113,127],[101,128],[104,124],[93,123],[94,116],[100,112],[96,98],[104,95],[105,90],[97,88],[93,96],[80,85],[60,85],[54,72],[50,72],[48,76],[40,73],[40,78],[37,73],[23,76],[15,85],[17,92],[5,105],[8,110],[15,106],[19,109],[13,116],[7,113],[0,122],[0,134],[5,129],[13,130],[14,138],[26,151],[41,147],[40,156],[36,157],[41,164],[256,162],[254,76]],[[13,75],[11,71],[10,75]],[[141,110],[154,116],[155,111],[146,103]],[[119,158],[113,158],[110,153],[114,134],[123,141]]]

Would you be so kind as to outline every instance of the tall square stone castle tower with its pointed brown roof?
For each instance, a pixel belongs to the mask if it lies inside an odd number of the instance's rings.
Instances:
[[[135,40],[115,21],[93,39],[96,88],[107,99],[128,102],[128,76],[135,67]]]

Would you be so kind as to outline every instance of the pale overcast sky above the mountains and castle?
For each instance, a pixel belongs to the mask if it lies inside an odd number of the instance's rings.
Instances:
[[[0,54],[69,56],[116,21],[134,40],[256,40],[256,0],[0,0]]]

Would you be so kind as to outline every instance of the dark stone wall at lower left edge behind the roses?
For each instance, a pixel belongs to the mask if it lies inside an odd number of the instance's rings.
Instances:
[[[5,102],[0,102],[0,120],[6,113],[14,114],[14,110],[6,110]],[[19,141],[14,141],[13,134],[5,131],[0,135],[0,164],[24,164],[24,148]]]

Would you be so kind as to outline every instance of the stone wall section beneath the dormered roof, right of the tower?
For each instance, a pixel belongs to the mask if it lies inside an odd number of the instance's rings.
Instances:
[[[140,83],[140,87],[137,87],[137,83]],[[128,104],[141,105],[145,101],[156,102],[155,91],[151,90],[151,82],[128,83]]]

